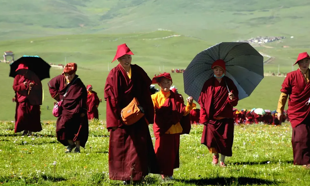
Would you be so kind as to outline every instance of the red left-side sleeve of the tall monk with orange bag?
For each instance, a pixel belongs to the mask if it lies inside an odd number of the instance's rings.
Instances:
[[[113,70],[110,71],[106,86],[105,86],[105,101],[107,101],[107,129],[110,131],[112,127],[120,127],[123,125],[121,121],[121,110],[117,104],[117,80],[113,73],[117,73]]]

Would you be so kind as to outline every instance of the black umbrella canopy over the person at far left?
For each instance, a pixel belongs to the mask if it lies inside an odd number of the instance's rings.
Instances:
[[[39,79],[42,81],[45,78],[49,78],[49,68],[50,65],[47,64],[41,57],[39,56],[28,56],[24,55],[23,57],[17,59],[13,63],[10,64],[10,77],[15,77],[17,75],[16,69],[19,64],[25,64],[28,69],[34,72]]]

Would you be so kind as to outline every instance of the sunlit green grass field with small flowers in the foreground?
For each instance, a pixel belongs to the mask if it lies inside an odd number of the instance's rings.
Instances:
[[[109,180],[109,133],[104,122],[90,123],[86,149],[65,154],[55,137],[55,123],[44,122],[32,136],[14,134],[14,123],[0,124],[0,184],[3,186],[117,186]],[[202,126],[193,125],[181,136],[180,168],[174,181],[146,177],[145,186],[308,186],[309,169],[293,165],[292,128],[282,126],[235,126],[233,156],[227,167],[212,166],[212,154],[200,144]],[[152,126],[150,126],[151,135]],[[56,165],[53,166],[53,162]]]

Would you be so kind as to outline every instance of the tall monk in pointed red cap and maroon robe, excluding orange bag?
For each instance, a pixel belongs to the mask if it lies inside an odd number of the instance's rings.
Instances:
[[[124,184],[141,181],[148,173],[159,173],[149,123],[154,123],[154,107],[147,73],[131,64],[133,53],[124,43],[117,47],[113,59],[119,64],[111,69],[105,85],[107,129],[109,137],[109,178]],[[113,62],[112,61],[112,62]],[[121,111],[136,98],[144,116],[125,125]]]

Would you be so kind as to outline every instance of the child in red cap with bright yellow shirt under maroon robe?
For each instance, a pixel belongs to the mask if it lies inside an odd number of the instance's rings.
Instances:
[[[162,179],[172,179],[173,169],[178,168],[180,164],[180,135],[189,133],[188,114],[196,104],[193,103],[193,98],[189,97],[185,106],[184,100],[170,90],[172,85],[170,73],[155,76],[152,84],[157,84],[161,88],[152,95],[155,109],[153,124],[156,138],[155,153]]]

